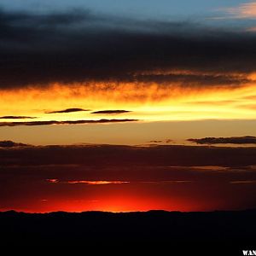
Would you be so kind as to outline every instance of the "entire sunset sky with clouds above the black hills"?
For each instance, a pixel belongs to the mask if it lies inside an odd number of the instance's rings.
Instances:
[[[0,210],[255,207],[255,20],[255,1],[2,0]]]

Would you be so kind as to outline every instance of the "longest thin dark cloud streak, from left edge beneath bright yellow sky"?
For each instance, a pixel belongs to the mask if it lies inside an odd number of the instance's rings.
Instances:
[[[31,121],[31,122],[0,122],[1,126],[19,126],[19,125],[82,125],[82,124],[105,124],[105,123],[125,123],[136,122],[137,119],[99,119],[99,120],[67,120],[67,121]]]

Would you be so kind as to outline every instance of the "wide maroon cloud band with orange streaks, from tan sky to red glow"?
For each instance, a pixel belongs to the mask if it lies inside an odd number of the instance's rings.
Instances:
[[[0,148],[0,184],[7,179],[56,185],[109,181],[142,185],[229,184],[256,180],[255,156],[256,148],[203,146],[9,147]]]

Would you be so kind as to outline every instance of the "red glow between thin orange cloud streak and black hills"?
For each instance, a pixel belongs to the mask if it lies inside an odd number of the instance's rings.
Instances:
[[[103,183],[97,185],[49,183],[49,191],[26,192],[26,198],[16,195],[15,200],[9,201],[5,207],[0,207],[0,210],[18,212],[146,212],[150,210],[196,212],[239,209],[242,208],[242,203],[245,203],[244,195],[240,198],[237,196],[234,202],[234,197],[231,201],[230,195],[225,195],[224,191],[219,191],[219,193],[208,191],[206,195],[206,192],[195,189],[194,186],[193,183]],[[221,197],[219,194],[222,193]]]

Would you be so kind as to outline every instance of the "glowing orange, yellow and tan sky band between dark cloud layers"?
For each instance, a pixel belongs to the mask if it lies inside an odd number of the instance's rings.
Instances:
[[[154,74],[158,73],[160,72]],[[204,76],[209,73],[176,70],[172,71],[172,74]],[[246,82],[234,86],[230,84],[198,86],[195,81],[188,86],[184,82],[172,84],[87,82],[49,84],[46,87],[32,85],[15,90],[0,90],[0,117],[35,117],[35,119],[1,119],[0,139],[44,145],[145,144],[152,140],[172,139],[176,143],[184,143],[189,137],[256,135],[252,126],[256,113],[256,75],[255,73],[229,75],[235,80],[241,79]],[[46,113],[67,108],[81,108],[86,111]],[[93,113],[102,110],[130,112]],[[8,122],[99,119],[137,119],[137,121],[130,124],[4,126]],[[215,122],[212,123],[212,120]],[[252,120],[251,125],[249,120]],[[213,129],[211,125],[214,125]]]

